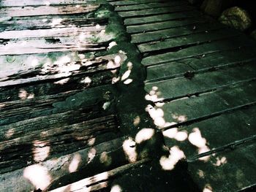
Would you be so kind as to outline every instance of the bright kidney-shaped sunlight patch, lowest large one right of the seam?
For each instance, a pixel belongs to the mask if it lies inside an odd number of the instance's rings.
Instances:
[[[162,169],[170,171],[174,169],[178,161],[182,158],[185,158],[184,152],[180,150],[178,146],[174,146],[170,148],[170,155],[168,157],[163,155],[159,163]]]

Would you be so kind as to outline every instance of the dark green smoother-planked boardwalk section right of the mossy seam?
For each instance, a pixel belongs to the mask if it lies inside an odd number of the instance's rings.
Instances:
[[[256,184],[256,44],[185,1],[111,1],[143,54],[165,144],[203,191]]]

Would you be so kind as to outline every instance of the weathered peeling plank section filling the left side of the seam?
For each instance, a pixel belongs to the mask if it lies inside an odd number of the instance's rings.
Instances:
[[[100,4],[0,5],[0,191],[47,190],[71,173],[128,164],[112,85],[127,56],[95,55],[113,40],[108,19],[93,16]]]

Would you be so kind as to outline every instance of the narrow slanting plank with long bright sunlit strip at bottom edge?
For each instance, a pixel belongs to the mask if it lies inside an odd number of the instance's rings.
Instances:
[[[111,180],[113,177],[118,177],[120,174],[124,174],[125,172],[127,172],[130,169],[135,169],[138,166],[141,166],[145,163],[147,163],[148,161],[150,161],[150,159],[145,158],[143,160],[137,161],[135,163],[132,164],[126,164],[124,166],[120,166],[116,169],[112,169],[108,172],[102,172],[100,174],[94,175],[92,177],[88,177],[86,179],[80,180],[76,183],[72,183],[66,186],[63,186],[61,188],[56,188],[55,190],[51,191],[51,192],[64,192],[67,190],[67,188],[70,188],[70,192],[72,191],[78,191],[78,190],[83,190],[83,191],[91,191],[91,188],[94,187],[94,185],[97,185],[97,183],[102,183],[105,180]],[[107,175],[107,177],[106,177]],[[103,187],[104,188],[104,185]],[[100,188],[97,188],[97,190],[99,190]]]

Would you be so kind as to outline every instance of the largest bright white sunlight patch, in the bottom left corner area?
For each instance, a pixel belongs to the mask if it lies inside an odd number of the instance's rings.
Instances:
[[[50,185],[51,177],[48,170],[39,164],[26,167],[23,177],[29,180],[36,189],[45,190]]]

